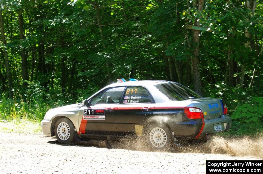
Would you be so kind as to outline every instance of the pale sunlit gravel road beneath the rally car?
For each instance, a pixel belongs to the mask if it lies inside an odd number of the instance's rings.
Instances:
[[[205,173],[205,160],[262,159],[262,137],[253,143],[220,141],[218,138],[210,145],[191,145],[175,152],[148,152],[134,140],[62,145],[41,134],[2,133],[0,173]],[[250,144],[243,152],[242,141]]]

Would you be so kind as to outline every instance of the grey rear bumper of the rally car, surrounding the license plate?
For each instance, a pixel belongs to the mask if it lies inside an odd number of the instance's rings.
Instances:
[[[217,133],[215,132],[214,124],[218,124],[218,123],[221,123],[222,131],[227,131],[231,127],[231,118],[228,115],[224,115],[221,118],[205,119],[205,126],[203,128],[203,131],[200,134],[200,137],[205,136],[206,134],[209,134],[209,133]]]

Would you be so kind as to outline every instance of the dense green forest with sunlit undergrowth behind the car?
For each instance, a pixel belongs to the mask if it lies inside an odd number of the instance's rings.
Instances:
[[[231,135],[263,131],[260,0],[0,3],[1,122],[39,123],[51,108],[135,78],[223,98]]]

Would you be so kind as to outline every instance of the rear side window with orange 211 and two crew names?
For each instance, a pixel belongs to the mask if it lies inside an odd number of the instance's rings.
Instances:
[[[127,87],[122,103],[151,103],[149,92],[140,86]]]

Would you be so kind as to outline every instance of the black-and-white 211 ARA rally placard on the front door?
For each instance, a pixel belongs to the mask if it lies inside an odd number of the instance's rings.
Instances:
[[[102,119],[105,120],[105,109],[101,108],[88,108],[83,110],[83,119],[96,120]]]

